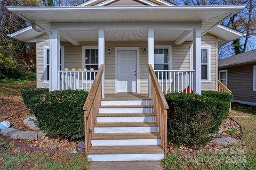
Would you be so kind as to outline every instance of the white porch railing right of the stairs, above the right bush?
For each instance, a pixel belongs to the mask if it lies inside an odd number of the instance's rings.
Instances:
[[[194,91],[194,70],[155,70],[157,81],[164,94],[171,92],[183,92],[189,86]],[[188,92],[188,90],[185,90]]]

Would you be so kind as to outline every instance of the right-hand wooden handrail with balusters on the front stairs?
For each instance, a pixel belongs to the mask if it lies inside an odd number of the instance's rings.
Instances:
[[[151,64],[148,66],[150,75],[150,95],[151,102],[154,107],[154,113],[156,115],[156,124],[158,125],[159,135],[161,137],[161,146],[164,150],[164,156],[167,155],[167,109],[169,106],[164,97],[157,81],[154,69]]]

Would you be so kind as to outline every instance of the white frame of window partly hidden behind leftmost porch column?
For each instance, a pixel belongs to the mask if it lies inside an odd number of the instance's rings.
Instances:
[[[60,63],[58,65],[58,70],[60,70],[60,66],[61,66],[61,70],[64,70],[64,46],[60,46],[61,49],[61,54],[60,54]],[[49,73],[49,80],[47,80],[47,50],[49,50],[49,68],[50,68],[50,62],[51,62],[51,52],[50,52],[50,46],[44,46],[44,83],[49,83],[50,81],[50,73]],[[49,69],[50,72],[50,69]]]

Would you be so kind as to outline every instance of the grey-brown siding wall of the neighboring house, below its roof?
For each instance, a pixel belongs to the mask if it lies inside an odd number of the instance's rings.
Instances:
[[[228,88],[232,91],[233,99],[256,103],[256,91],[253,91],[254,64],[223,68],[228,70]]]

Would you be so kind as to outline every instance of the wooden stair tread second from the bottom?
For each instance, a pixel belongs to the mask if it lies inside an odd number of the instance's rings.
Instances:
[[[104,139],[159,139],[158,133],[94,133],[92,140]]]

